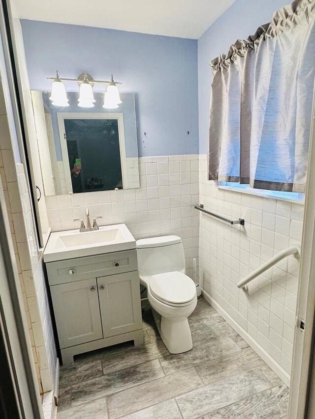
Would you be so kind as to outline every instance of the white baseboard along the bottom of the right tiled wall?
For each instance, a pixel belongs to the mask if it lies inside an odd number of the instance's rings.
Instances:
[[[246,343],[256,352],[256,354],[281,378],[284,384],[290,387],[290,376],[284,369],[276,363],[269,354],[250,336],[245,330],[243,330],[232,317],[227,314],[225,310],[212,298],[208,293],[202,289],[203,298],[223,317],[223,319],[238,333]]]

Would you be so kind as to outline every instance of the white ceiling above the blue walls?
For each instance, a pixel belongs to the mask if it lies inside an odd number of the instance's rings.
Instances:
[[[14,0],[21,19],[198,39],[235,0]]]

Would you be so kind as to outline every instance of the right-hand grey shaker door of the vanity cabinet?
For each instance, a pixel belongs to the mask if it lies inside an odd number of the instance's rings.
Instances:
[[[142,328],[138,272],[97,278],[104,337]]]

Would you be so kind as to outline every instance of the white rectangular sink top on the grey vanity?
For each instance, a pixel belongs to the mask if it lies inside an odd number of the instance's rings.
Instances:
[[[57,231],[49,237],[44,261],[53,262],[135,248],[136,241],[126,224],[106,225],[95,231]]]

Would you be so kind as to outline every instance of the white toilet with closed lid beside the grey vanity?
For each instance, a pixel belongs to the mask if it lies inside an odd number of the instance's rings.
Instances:
[[[196,286],[185,275],[182,239],[178,236],[137,240],[140,282],[148,299],[159,334],[171,354],[192,348],[188,317],[197,305]]]

